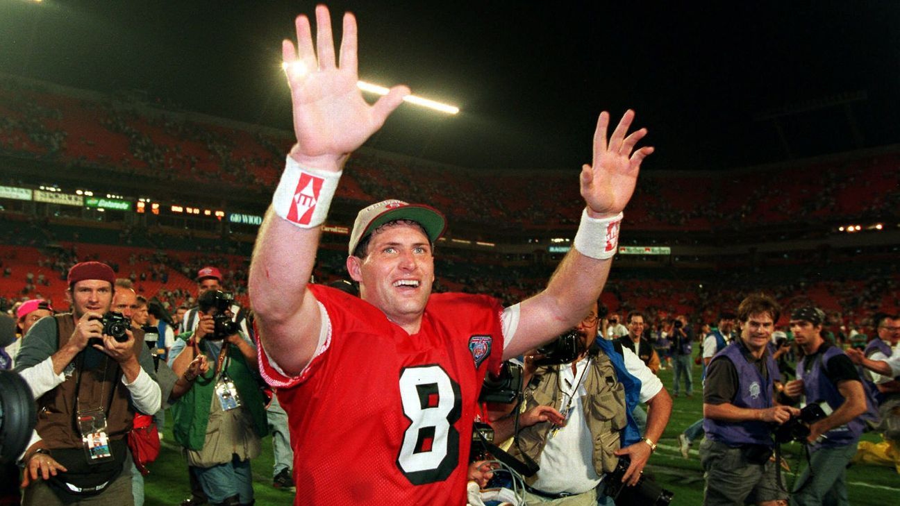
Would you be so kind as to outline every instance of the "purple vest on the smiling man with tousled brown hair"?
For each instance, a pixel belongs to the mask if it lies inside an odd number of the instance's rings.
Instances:
[[[766,361],[767,376],[762,379],[760,371],[743,357],[743,347],[737,341],[732,342],[722,351],[716,353],[716,357],[710,361],[728,359],[737,370],[738,390],[734,394],[732,403],[739,408],[764,410],[772,407],[773,378],[778,372],[778,366],[768,353],[764,357]],[[705,418],[703,429],[707,438],[725,443],[729,447],[741,445],[765,445],[772,447],[775,443],[770,436],[770,424],[761,420],[723,421]]]

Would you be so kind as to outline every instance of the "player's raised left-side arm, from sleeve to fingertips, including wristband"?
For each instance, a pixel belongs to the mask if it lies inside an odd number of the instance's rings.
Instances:
[[[306,366],[318,342],[320,314],[306,285],[341,167],[409,93],[405,86],[395,86],[375,104],[366,104],[356,87],[353,14],[344,15],[339,67],[324,5],[316,7],[316,23],[315,47],[305,15],[296,20],[296,48],[292,41],[282,43],[297,143],[259,229],[250,264],[250,301],[260,340],[287,374]]]

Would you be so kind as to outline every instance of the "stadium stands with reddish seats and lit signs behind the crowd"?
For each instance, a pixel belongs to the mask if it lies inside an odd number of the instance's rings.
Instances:
[[[246,307],[249,254],[291,135],[0,76],[0,310],[44,298],[66,311],[67,270],[85,260],[111,265],[169,312],[193,306],[195,274],[216,266]],[[620,246],[629,249],[601,301],[610,313],[643,311],[655,339],[674,315],[699,330],[765,290],[786,308],[823,308],[839,342],[871,337],[874,313],[900,312],[898,167],[893,146],[724,172],[647,172],[626,209]],[[521,300],[571,246],[582,205],[576,178],[574,169],[474,171],[361,149],[347,164],[314,276],[345,278],[356,210],[396,197],[448,216],[437,291]],[[662,377],[671,385],[669,372]],[[677,455],[698,400],[678,401],[675,412],[662,446]],[[171,447],[164,457],[178,465]],[[697,472],[696,462],[662,465]],[[165,488],[152,479],[148,503]]]

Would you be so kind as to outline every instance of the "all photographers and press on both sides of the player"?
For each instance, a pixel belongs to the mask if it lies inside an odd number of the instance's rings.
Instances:
[[[62,504],[88,494],[142,504],[148,462],[124,448],[142,415],[156,415],[151,427],[161,431],[166,408],[192,482],[184,504],[252,503],[249,462],[269,432],[274,484],[293,487],[286,416],[260,386],[252,316],[222,291],[216,267],[200,268],[195,279],[197,305],[169,313],[135,294],[111,267],[82,262],[67,273],[71,312],[38,299],[15,305],[20,339],[0,349],[0,366],[21,373],[40,411],[21,459],[23,503]],[[878,313],[868,339],[836,336],[827,330],[828,315],[812,306],[792,312],[784,330],[776,327],[780,314],[779,304],[761,295],[747,297],[736,314],[723,312],[711,328],[681,315],[650,326],[644,313],[607,314],[595,306],[568,336],[522,357],[518,384],[486,383],[483,421],[496,432],[491,439],[516,436],[509,457],[527,463],[518,469],[527,476],[525,490],[514,497],[528,504],[670,501],[671,492],[640,479],[671,412],[671,396],[655,374],[676,368],[673,395],[691,396],[700,386],[691,377],[696,361],[703,366],[704,416],[679,442],[689,456],[694,441],[706,437],[699,446],[705,503],[847,503],[843,476],[860,434],[896,425],[900,369],[890,358],[900,319]],[[845,353],[844,346],[859,351]],[[497,397],[504,389],[516,393]],[[483,436],[476,430],[473,447]],[[896,436],[888,430],[886,444],[896,444]],[[778,447],[793,440],[808,445],[809,459],[788,493]],[[473,456],[492,459],[492,450],[502,451],[481,448]],[[473,465],[480,486],[470,501],[477,504],[500,474],[483,461]],[[123,499],[125,492],[130,497]],[[628,493],[639,495],[626,499]]]

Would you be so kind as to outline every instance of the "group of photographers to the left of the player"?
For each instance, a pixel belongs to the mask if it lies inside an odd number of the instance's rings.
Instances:
[[[286,415],[257,373],[252,317],[223,291],[218,268],[195,279],[196,305],[169,312],[86,261],[67,272],[69,312],[40,299],[14,305],[0,367],[23,378],[37,424],[10,456],[24,468],[21,492],[7,487],[0,500],[143,504],[166,411],[192,482],[183,504],[252,504],[250,460],[269,432],[273,486],[293,489]],[[3,473],[20,482],[17,467]]]

